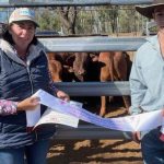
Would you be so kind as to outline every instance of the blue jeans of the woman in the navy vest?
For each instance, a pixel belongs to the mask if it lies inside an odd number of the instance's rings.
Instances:
[[[20,149],[0,149],[0,163],[2,164],[46,164],[49,140],[37,141],[32,145]]]

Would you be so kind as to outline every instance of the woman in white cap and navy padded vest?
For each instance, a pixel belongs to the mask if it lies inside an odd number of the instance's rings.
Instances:
[[[38,24],[27,8],[15,9],[3,31],[0,49],[0,163],[45,164],[49,139],[55,129],[32,131],[26,127],[26,112],[39,106],[31,97],[38,89],[69,101],[51,85],[46,54],[37,38]],[[40,106],[40,112],[46,109]]]

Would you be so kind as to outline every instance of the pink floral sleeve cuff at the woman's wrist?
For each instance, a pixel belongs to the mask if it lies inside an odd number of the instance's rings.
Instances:
[[[0,115],[14,115],[16,114],[17,109],[17,102],[0,99]]]

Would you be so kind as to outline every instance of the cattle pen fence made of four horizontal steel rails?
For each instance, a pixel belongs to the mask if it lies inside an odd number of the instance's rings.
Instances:
[[[134,5],[149,4],[152,0],[10,0],[0,2],[1,8],[15,7],[65,7],[65,5]],[[144,42],[144,37],[60,37],[39,38],[46,51],[134,51]],[[74,96],[101,95],[130,95],[129,83],[126,82],[83,82],[83,83],[56,83],[58,89]],[[96,87],[95,87],[96,85]],[[131,139],[129,132],[105,129],[91,124],[80,125],[78,128],[57,125],[55,139]]]

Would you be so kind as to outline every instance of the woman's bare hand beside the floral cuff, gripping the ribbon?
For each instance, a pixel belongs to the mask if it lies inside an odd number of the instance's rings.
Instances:
[[[39,97],[28,97],[17,103],[17,110],[33,110],[39,105]]]

